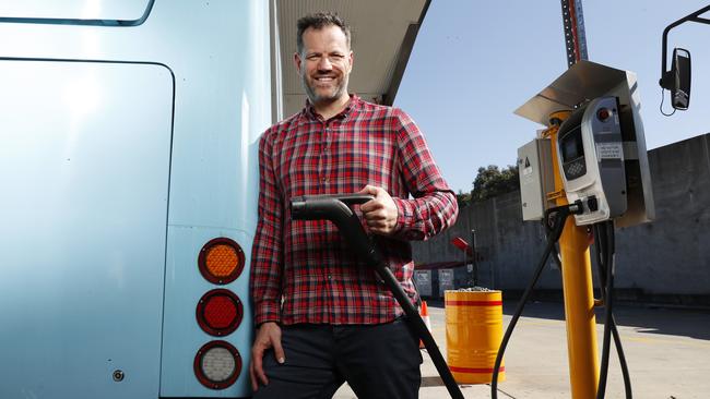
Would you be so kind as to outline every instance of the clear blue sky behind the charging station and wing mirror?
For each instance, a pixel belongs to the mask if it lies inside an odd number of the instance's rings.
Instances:
[[[658,84],[663,28],[708,4],[583,1],[589,60],[637,73],[649,149],[710,132],[710,25],[689,22],[668,35],[668,62],[673,47],[691,53],[690,109],[663,117]],[[431,0],[394,104],[425,132],[451,188],[466,192],[478,167],[513,165],[543,128],[512,112],[565,72],[566,60],[558,0]]]

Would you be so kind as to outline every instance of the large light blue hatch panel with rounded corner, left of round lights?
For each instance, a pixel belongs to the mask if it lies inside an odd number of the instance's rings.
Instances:
[[[156,398],[174,78],[0,59],[0,398]]]

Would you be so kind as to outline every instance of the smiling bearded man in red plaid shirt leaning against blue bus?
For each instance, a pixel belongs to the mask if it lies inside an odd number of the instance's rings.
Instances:
[[[415,301],[406,240],[451,226],[455,196],[407,114],[348,95],[353,52],[340,17],[300,19],[297,40],[306,107],[259,145],[255,398],[330,398],[345,380],[360,398],[416,398],[418,339],[395,299],[331,222],[292,221],[288,204],[298,195],[372,195],[356,211]]]

